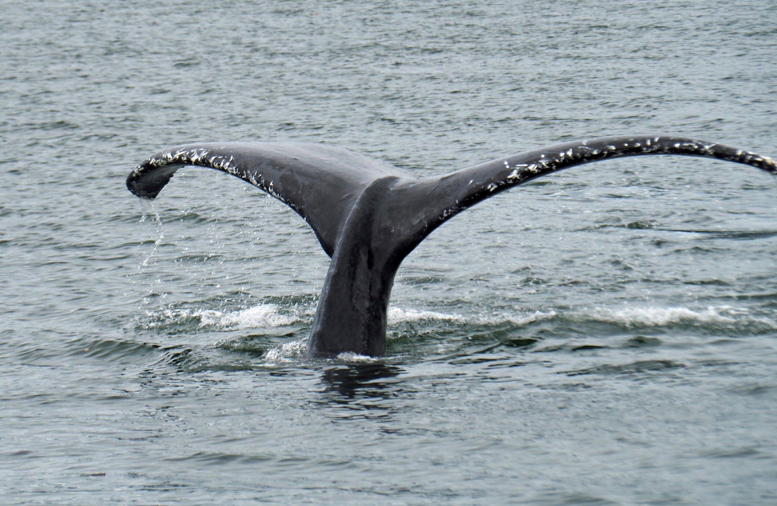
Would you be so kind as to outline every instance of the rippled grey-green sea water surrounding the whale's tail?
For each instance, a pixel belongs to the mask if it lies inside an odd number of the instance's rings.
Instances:
[[[124,187],[205,140],[775,156],[773,2],[0,7],[0,503],[777,502],[768,174],[625,159],[479,204],[399,270],[380,360],[301,354],[328,258],[291,210]]]

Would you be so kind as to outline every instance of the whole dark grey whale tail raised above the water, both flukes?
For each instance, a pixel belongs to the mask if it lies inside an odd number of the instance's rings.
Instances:
[[[308,354],[385,352],[386,313],[402,260],[466,208],[536,177],[598,160],[639,155],[723,159],[777,173],[772,159],[671,135],[618,135],[564,142],[457,170],[417,177],[343,148],[301,142],[179,145],[141,162],[127,188],[155,198],[182,166],[238,176],[294,209],[332,258],[308,338]]]

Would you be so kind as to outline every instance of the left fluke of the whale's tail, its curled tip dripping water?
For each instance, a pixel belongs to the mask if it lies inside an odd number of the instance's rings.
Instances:
[[[343,148],[304,142],[207,142],[179,145],[138,165],[127,188],[156,198],[183,166],[218,169],[238,176],[287,204],[308,222],[332,256],[337,234],[361,191],[385,176],[413,174]]]

